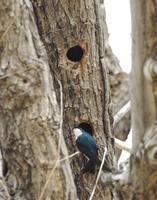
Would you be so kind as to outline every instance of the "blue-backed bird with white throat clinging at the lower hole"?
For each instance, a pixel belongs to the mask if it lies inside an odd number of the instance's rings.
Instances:
[[[90,133],[80,127],[74,128],[73,133],[79,151],[89,159],[82,172],[90,172],[94,174],[96,165],[101,165],[101,161],[98,158],[99,146],[97,145],[96,140]],[[108,168],[105,168],[105,170],[110,171]]]

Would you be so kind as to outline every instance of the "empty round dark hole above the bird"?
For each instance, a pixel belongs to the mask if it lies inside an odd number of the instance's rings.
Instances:
[[[78,62],[82,59],[83,57],[83,49],[79,46],[73,46],[67,51],[67,58],[73,62]]]

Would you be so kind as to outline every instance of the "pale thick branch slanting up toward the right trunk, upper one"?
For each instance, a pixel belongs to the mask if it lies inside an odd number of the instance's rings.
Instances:
[[[131,109],[130,101],[128,101],[114,116],[114,123],[115,126]]]

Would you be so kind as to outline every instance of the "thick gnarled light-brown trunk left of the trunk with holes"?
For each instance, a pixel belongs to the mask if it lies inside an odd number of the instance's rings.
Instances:
[[[59,158],[61,111],[30,1],[0,2],[0,91],[1,148],[9,194],[16,200],[39,199]],[[63,138],[60,148],[67,156]],[[65,161],[56,167],[43,199],[76,198]]]

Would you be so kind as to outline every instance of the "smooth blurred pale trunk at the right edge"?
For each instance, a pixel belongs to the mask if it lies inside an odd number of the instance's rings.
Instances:
[[[120,199],[156,200],[157,2],[155,0],[130,2],[133,56],[131,72],[133,152],[129,167],[116,183],[118,183]],[[116,178],[118,177],[114,176],[114,180]]]

